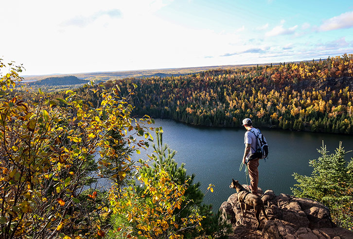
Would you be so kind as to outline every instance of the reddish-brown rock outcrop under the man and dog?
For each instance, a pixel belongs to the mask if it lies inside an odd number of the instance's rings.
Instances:
[[[261,188],[258,192],[263,193]],[[262,200],[269,220],[261,213],[260,230],[253,209],[242,217],[236,193],[221,205],[223,220],[233,225],[231,239],[353,239],[353,233],[336,227],[329,209],[314,200],[275,195],[272,190],[265,191]]]

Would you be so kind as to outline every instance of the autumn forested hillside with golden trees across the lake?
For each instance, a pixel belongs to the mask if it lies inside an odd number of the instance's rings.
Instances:
[[[170,118],[194,125],[239,127],[249,117],[256,126],[353,133],[353,55],[276,66],[209,70],[118,84],[134,114]],[[80,91],[86,91],[81,88]],[[98,101],[91,89],[87,100]]]

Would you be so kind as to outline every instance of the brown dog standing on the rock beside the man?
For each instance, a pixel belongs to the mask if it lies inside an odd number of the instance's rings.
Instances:
[[[247,189],[245,189],[237,180],[232,179],[232,183],[229,188],[235,188],[237,190],[238,201],[240,203],[240,208],[242,209],[243,217],[247,212],[247,205],[253,206],[255,210],[255,217],[257,220],[257,230],[260,228],[260,213],[261,210],[264,212],[265,218],[268,220],[264,202],[261,198],[255,194],[252,194]]]

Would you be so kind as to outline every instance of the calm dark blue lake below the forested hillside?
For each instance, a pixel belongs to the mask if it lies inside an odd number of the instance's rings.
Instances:
[[[214,192],[208,192],[204,198],[206,204],[212,204],[214,211],[235,193],[230,189],[231,179],[246,184],[247,179],[239,166],[244,154],[245,129],[194,127],[174,120],[155,120],[154,127],[163,128],[163,144],[177,151],[175,160],[185,163],[189,175],[195,174],[195,182],[201,182],[201,189],[206,192],[209,184],[213,184]],[[255,125],[256,126],[256,125]],[[272,189],[276,195],[292,194],[290,187],[296,183],[292,174],[298,172],[310,175],[312,168],[309,160],[317,159],[317,149],[322,140],[330,153],[334,153],[342,141],[346,151],[353,149],[353,137],[346,135],[320,134],[308,132],[280,131],[262,129],[261,132],[269,145],[269,156],[266,162],[260,160],[259,187],[264,191]],[[144,158],[152,152],[134,154],[133,159]],[[347,154],[347,160],[352,157]]]

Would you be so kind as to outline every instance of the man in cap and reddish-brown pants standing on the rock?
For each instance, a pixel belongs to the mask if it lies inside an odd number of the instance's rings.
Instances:
[[[245,151],[243,164],[247,164],[251,192],[255,195],[259,195],[257,193],[257,185],[259,183],[259,171],[257,167],[259,166],[259,158],[256,157],[255,154],[257,149],[256,134],[258,133],[258,130],[252,127],[252,121],[249,118],[244,119],[242,125],[247,129],[244,137]]]

